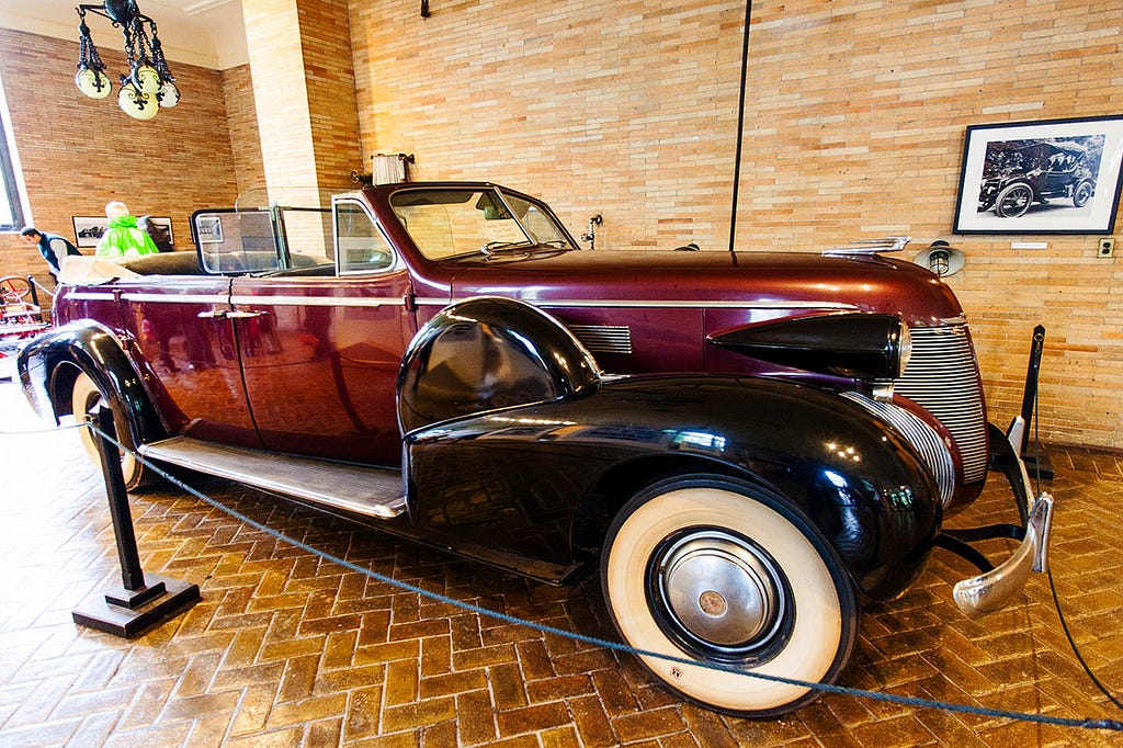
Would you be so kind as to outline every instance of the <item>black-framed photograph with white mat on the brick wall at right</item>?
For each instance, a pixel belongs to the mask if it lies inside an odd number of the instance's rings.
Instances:
[[[956,234],[1111,234],[1123,115],[967,128]]]

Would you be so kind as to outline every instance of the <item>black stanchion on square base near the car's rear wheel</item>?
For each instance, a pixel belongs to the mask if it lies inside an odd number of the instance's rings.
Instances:
[[[199,585],[156,574],[146,575],[140,568],[120,454],[117,445],[102,436],[117,438],[112,411],[102,408],[98,412],[97,425],[102,432],[95,435],[98,456],[106,476],[109,514],[113,520],[117,556],[121,562],[121,586],[88,598],[73,615],[75,623],[130,639],[199,602]]]

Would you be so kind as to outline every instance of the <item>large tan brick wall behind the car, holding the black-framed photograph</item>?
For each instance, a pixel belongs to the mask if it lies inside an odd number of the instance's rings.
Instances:
[[[742,4],[431,8],[350,2],[365,157],[542,195],[574,234],[602,213],[603,248],[728,246]],[[1121,31],[1093,0],[754,3],[738,246],[951,240],[992,419],[1020,409],[1043,322],[1043,436],[1123,447],[1123,259],[951,232],[965,128],[1123,112]]]

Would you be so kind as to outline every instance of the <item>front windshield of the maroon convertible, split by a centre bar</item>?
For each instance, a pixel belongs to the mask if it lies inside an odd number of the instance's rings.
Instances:
[[[517,247],[576,249],[545,206],[493,188],[402,190],[390,204],[427,259],[487,258]]]

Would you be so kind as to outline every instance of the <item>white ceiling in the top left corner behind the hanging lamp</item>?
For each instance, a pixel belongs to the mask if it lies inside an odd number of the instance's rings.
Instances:
[[[77,4],[75,0],[0,0],[0,28],[76,43]],[[156,21],[170,61],[211,70],[226,70],[247,61],[240,0],[137,0],[137,7]],[[88,13],[86,24],[99,47],[122,46],[120,31],[109,19]]]

